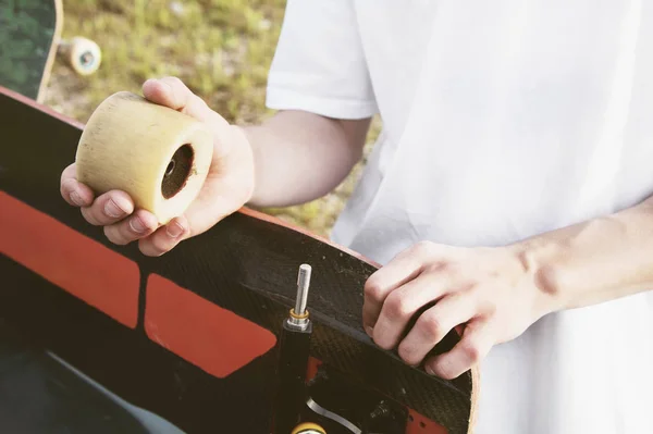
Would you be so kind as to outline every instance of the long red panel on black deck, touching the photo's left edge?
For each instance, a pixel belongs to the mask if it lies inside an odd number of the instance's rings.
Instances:
[[[134,261],[4,191],[0,210],[0,252],[136,327],[139,270]]]

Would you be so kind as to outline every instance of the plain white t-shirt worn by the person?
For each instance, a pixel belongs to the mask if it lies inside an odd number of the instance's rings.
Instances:
[[[289,0],[268,90],[380,113],[333,238],[381,263],[653,194],[653,1]],[[550,314],[482,362],[476,432],[651,434],[652,370],[653,292]]]

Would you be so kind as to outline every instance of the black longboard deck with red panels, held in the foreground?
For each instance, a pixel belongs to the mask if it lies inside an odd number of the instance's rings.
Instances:
[[[59,194],[84,125],[2,88],[0,111],[0,319],[29,339],[187,433],[266,433],[309,263],[315,361],[404,406],[406,433],[471,432],[476,371],[429,376],[362,331],[373,262],[248,209],[159,258],[112,245]]]

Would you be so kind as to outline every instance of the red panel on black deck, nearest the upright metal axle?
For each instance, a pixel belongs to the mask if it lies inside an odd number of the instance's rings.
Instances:
[[[272,332],[158,274],[148,277],[145,331],[157,344],[219,379],[276,344]]]

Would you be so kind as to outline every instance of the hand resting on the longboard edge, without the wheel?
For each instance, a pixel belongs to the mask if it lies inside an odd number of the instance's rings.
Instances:
[[[512,247],[419,243],[367,281],[365,328],[380,347],[398,346],[406,363],[423,362],[428,373],[455,379],[483,359],[492,346],[514,339],[554,310],[552,295],[539,288],[540,273],[527,258]],[[433,302],[405,334],[416,312]],[[424,360],[458,325],[464,325],[460,342],[451,351]]]

